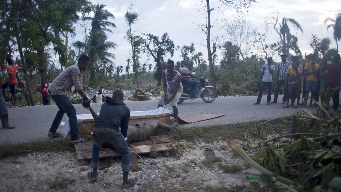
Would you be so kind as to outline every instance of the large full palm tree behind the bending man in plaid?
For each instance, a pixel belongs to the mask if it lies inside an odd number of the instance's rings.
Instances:
[[[108,22],[106,20],[113,18],[114,15],[110,13],[108,10],[103,9],[106,5],[97,4],[94,9],[93,17],[84,17],[84,20],[91,20],[91,31],[88,40],[85,42],[76,41],[73,43],[73,46],[83,50],[84,54],[89,55],[90,57],[90,74],[89,80],[91,83],[95,83],[97,81],[95,68],[98,69],[98,64],[109,64],[113,65],[113,61],[109,58],[115,59],[115,55],[107,52],[108,49],[115,49],[116,44],[114,42],[107,42],[107,37],[105,35],[105,31],[113,32],[106,27],[116,27],[114,23]]]

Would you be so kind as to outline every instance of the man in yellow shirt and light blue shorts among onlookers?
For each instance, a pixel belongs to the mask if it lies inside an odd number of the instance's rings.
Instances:
[[[320,66],[317,63],[315,63],[315,56],[313,54],[309,54],[307,55],[307,57],[308,57],[309,62],[306,63],[306,65],[304,66],[304,73],[307,76],[306,87],[305,87],[306,95],[303,96],[303,98],[308,97],[309,91],[311,91],[311,99],[310,99],[309,107],[314,107],[314,105],[312,105],[312,100],[314,99],[314,94],[317,88],[317,77],[318,77]],[[308,98],[306,98],[303,101],[303,103],[305,104],[303,108],[307,107],[307,102],[308,102]]]

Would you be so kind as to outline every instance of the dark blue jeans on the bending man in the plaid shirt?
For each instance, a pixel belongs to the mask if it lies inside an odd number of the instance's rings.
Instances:
[[[50,95],[51,98],[56,102],[59,111],[55,116],[55,120],[50,128],[50,132],[56,132],[60,122],[63,119],[64,114],[68,115],[70,123],[71,140],[76,140],[78,138],[78,124],[76,109],[73,107],[71,101],[66,95]]]

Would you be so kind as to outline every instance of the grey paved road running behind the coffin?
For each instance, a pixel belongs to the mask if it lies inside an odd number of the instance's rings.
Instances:
[[[199,113],[223,113],[226,114],[220,118],[207,121],[180,124],[180,127],[191,126],[209,126],[217,124],[236,124],[248,121],[268,120],[283,115],[291,115],[299,108],[283,109],[283,105],[271,104],[266,105],[263,96],[260,105],[252,105],[256,101],[256,96],[249,97],[223,97],[216,98],[212,103],[205,103],[202,99],[185,100],[178,105],[179,116],[189,116]],[[273,96],[272,96],[273,97]],[[279,96],[279,100],[282,99]],[[158,101],[127,101],[126,105],[131,111],[154,110]],[[77,114],[89,113],[89,110],[84,109],[80,104],[75,104]],[[101,104],[93,104],[95,111],[100,111]],[[172,110],[171,106],[166,106]],[[311,111],[316,108],[308,108]],[[9,109],[10,123],[15,125],[15,129],[0,129],[0,144],[14,142],[31,142],[37,140],[51,140],[57,138],[47,137],[48,129],[56,115],[58,108],[55,105],[51,106],[34,106],[34,107],[17,107]],[[65,121],[66,114],[63,121]],[[61,131],[62,127],[58,128]]]

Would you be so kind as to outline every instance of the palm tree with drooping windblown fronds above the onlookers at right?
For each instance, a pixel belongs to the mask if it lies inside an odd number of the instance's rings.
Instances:
[[[303,30],[301,25],[293,18],[285,18],[283,17],[282,19],[282,25],[279,24],[280,26],[280,34],[281,34],[281,40],[283,42],[283,53],[286,53],[287,56],[289,57],[289,45],[290,45],[290,40],[291,40],[291,33],[290,33],[290,28],[288,24],[291,24],[295,30],[300,30],[303,34]]]

